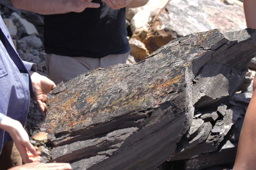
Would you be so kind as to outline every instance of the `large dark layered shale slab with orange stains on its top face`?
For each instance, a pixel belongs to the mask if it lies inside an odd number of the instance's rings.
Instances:
[[[205,168],[202,154],[234,148],[222,141],[239,131],[232,126],[242,114],[239,97],[228,104],[256,54],[254,39],[250,29],[194,33],[136,65],[98,68],[57,85],[46,118],[52,158],[72,169],[148,170],[181,159],[187,169]],[[205,159],[189,162],[196,157]]]

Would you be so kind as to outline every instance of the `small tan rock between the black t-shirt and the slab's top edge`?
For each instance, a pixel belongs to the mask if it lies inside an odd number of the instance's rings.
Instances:
[[[149,52],[145,45],[140,42],[139,40],[135,38],[131,38],[129,41],[130,47],[131,47],[131,53],[134,57],[144,60],[147,55],[149,55]]]

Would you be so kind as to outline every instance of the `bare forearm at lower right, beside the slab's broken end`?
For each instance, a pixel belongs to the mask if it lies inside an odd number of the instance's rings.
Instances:
[[[256,92],[248,106],[237,149],[233,170],[250,170],[256,167]]]

